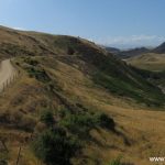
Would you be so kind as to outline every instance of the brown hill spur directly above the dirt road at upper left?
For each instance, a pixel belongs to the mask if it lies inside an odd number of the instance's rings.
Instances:
[[[52,52],[24,32],[0,28],[0,54],[1,58],[7,58],[16,55],[52,54]]]

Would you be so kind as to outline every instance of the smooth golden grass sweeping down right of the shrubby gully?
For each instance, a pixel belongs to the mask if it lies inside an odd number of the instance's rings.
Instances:
[[[150,165],[150,156],[164,156],[165,112],[150,111],[143,105],[136,105],[124,98],[117,98],[98,88],[90,78],[77,68],[58,62],[57,69],[50,69],[57,77],[65,95],[80,101],[88,108],[105,111],[113,117],[118,135],[108,131],[94,131],[94,138],[100,145],[91,144],[85,148],[85,155],[109,161],[122,155],[125,162],[135,165]],[[123,136],[129,141],[127,145]],[[89,163],[90,164],[90,163]]]

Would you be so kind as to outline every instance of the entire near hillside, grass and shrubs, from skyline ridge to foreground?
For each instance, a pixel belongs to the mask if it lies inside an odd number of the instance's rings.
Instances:
[[[120,155],[123,164],[148,165],[148,156],[164,154],[165,120],[154,110],[164,109],[165,97],[141,73],[82,38],[0,34],[1,59],[14,56],[21,72],[0,96],[8,147],[0,161],[15,164],[20,146],[21,165],[106,165]]]

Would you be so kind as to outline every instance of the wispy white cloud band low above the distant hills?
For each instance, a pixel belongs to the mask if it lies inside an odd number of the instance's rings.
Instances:
[[[161,42],[165,42],[164,36],[157,36],[157,35],[131,35],[131,36],[116,36],[116,37],[107,37],[99,40],[99,44],[103,45],[119,45],[119,46],[125,46],[125,45],[131,45],[131,46],[153,46],[155,44],[158,44]]]

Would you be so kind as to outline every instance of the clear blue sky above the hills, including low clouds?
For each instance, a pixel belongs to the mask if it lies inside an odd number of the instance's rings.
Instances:
[[[165,0],[0,0],[0,25],[129,48],[165,42]]]

